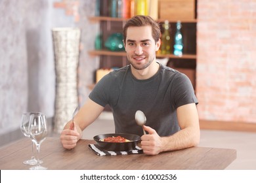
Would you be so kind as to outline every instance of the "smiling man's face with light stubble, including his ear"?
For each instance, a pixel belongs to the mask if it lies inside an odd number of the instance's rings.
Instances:
[[[125,50],[127,59],[135,69],[142,70],[148,67],[156,58],[159,47],[160,41],[155,43],[150,25],[128,27]]]

